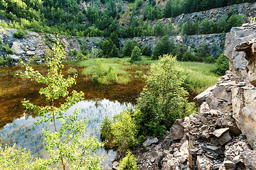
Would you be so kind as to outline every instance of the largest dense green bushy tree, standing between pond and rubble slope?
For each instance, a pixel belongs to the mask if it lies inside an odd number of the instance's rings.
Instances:
[[[183,118],[189,108],[188,92],[181,86],[186,77],[176,64],[176,58],[164,55],[152,64],[146,86],[138,98],[135,120],[143,135],[162,136],[177,118]],[[188,109],[189,108],[189,109]]]

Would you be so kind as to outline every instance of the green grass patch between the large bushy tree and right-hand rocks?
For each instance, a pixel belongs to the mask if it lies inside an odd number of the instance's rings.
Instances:
[[[216,84],[219,76],[216,76],[210,69],[214,67],[213,64],[206,64],[202,62],[178,62],[183,67],[187,79],[186,89],[196,94],[200,94],[209,86]]]

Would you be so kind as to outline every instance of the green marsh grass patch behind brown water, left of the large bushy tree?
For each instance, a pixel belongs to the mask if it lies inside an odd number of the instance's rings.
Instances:
[[[100,58],[85,61],[66,62],[68,65],[84,67],[82,76],[85,81],[94,81],[100,84],[128,84],[132,79],[142,78],[147,67],[154,61],[143,56],[143,60],[131,64],[129,58]]]

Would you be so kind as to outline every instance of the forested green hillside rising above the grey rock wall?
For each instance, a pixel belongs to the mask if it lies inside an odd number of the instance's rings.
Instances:
[[[171,22],[164,26],[161,21],[156,21],[152,26],[151,21],[245,2],[255,0],[2,0],[0,26],[88,37],[109,37],[115,32],[119,38],[223,33],[244,21],[242,16],[234,12],[235,8],[218,22],[201,21],[198,17],[194,22],[188,21],[178,26],[173,26]]]

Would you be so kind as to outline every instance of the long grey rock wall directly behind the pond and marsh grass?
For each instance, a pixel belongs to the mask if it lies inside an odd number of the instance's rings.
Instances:
[[[39,56],[42,61],[45,60],[46,51],[50,50],[50,46],[53,45],[55,41],[55,35],[28,32],[24,38],[14,38],[14,29],[4,29],[0,28],[0,38],[4,44],[9,45],[14,54],[9,55],[0,47],[0,56],[11,56],[13,59],[18,60],[22,58],[24,61],[28,62],[28,59],[33,56]],[[206,45],[208,53],[210,55],[216,56],[223,51],[223,44],[225,42],[224,34],[211,34],[211,35],[188,35],[188,36],[171,36],[169,39],[175,43],[180,42],[187,49],[193,44],[195,48],[199,48],[201,45]],[[72,36],[59,36],[66,55],[68,55],[68,50],[81,50],[81,45],[86,44],[87,50],[92,47],[97,47],[100,49],[100,43],[104,38],[84,38],[84,37],[72,37]],[[143,37],[143,38],[127,38],[120,39],[122,47],[126,40],[137,40],[139,45],[144,47],[149,46],[153,50],[156,42],[161,40],[161,37]]]

